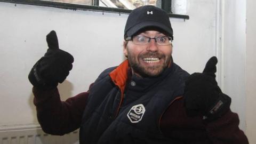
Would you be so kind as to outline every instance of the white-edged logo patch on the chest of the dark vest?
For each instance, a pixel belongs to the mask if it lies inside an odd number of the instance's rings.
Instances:
[[[132,123],[138,123],[141,121],[146,109],[142,104],[133,106],[129,113],[127,114],[127,117],[130,119]]]

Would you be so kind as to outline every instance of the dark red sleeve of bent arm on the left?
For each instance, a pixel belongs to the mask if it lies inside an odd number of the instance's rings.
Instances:
[[[79,128],[89,91],[66,101],[60,100],[58,89],[42,91],[33,87],[37,119],[44,132],[63,135]]]

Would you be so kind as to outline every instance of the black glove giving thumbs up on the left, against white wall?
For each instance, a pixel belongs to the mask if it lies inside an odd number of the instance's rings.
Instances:
[[[49,49],[31,69],[28,79],[32,85],[43,90],[50,90],[62,83],[72,69],[74,58],[68,52],[59,49],[58,38],[54,30],[47,36]]]

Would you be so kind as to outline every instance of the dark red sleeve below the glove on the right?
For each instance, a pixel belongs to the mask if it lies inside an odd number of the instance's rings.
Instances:
[[[188,117],[183,98],[171,103],[160,121],[160,129],[166,137],[188,143],[247,144],[244,132],[239,129],[239,118],[231,110],[211,122],[202,117]]]

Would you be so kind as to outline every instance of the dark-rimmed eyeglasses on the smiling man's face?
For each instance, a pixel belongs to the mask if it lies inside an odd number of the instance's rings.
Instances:
[[[132,41],[137,45],[147,45],[151,39],[155,39],[157,45],[170,45],[172,43],[172,37],[170,36],[157,36],[157,37],[147,37],[142,35],[130,36],[125,39],[125,41]]]

